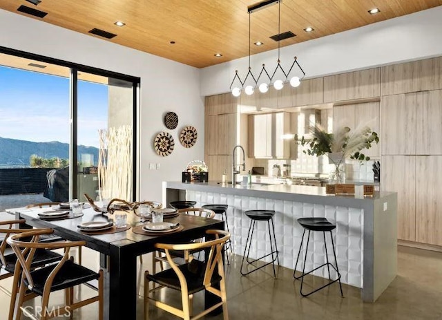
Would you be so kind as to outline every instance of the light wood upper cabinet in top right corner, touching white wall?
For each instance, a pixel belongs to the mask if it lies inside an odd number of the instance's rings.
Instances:
[[[442,57],[381,68],[382,95],[442,89]]]

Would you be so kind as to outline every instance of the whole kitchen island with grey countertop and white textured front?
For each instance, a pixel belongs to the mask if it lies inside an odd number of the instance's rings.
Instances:
[[[363,301],[374,302],[397,272],[397,194],[378,192],[372,197],[329,196],[325,187],[300,185],[222,185],[218,182],[163,182],[163,203],[195,200],[198,207],[227,204],[233,253],[242,255],[249,228],[249,209],[273,209],[280,265],[294,269],[303,229],[302,217],[324,217],[336,223],[334,240],[341,281],[361,288]],[[269,252],[269,242],[259,242],[265,225],[258,225],[251,256]],[[325,262],[323,234],[312,233],[306,270]],[[327,246],[331,243],[328,243]],[[303,247],[305,249],[306,243]],[[253,250],[253,252],[252,252]],[[329,252],[330,254],[330,252]],[[332,256],[329,256],[332,258]],[[298,270],[302,264],[298,263]],[[314,273],[328,278],[327,268]],[[336,276],[333,274],[332,276]]]

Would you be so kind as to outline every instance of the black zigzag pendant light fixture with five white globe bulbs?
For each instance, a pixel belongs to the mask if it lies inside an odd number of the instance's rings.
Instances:
[[[269,91],[270,86],[273,86],[273,88],[275,88],[276,90],[281,90],[282,88],[284,88],[284,85],[287,82],[291,86],[296,88],[300,85],[301,80],[305,77],[305,72],[304,72],[304,70],[302,70],[301,66],[298,64],[296,57],[294,58],[294,62],[291,64],[291,67],[289,68],[289,71],[287,73],[285,72],[285,70],[282,68],[282,66],[280,64],[280,40],[282,40],[281,33],[280,33],[281,2],[282,2],[282,0],[266,0],[266,1],[258,2],[252,6],[249,6],[249,8],[247,8],[247,13],[249,14],[249,70],[247,72],[246,77],[244,78],[244,81],[242,81],[240,76],[238,75],[238,70],[235,71],[235,76],[233,77],[233,80],[230,84],[231,93],[235,97],[239,97],[241,95],[241,92],[243,89],[244,89],[244,93],[246,93],[247,95],[252,95],[255,92],[256,87],[258,87],[258,90],[261,93],[266,93],[267,91]],[[273,36],[273,39],[278,41],[278,64],[276,65],[276,68],[273,71],[273,73],[271,74],[271,76],[267,72],[267,69],[265,68],[265,64],[262,64],[262,69],[261,69],[260,74],[258,75],[258,78],[255,78],[253,76],[251,66],[250,66],[251,14],[257,10],[267,8],[267,6],[271,6],[276,3],[278,3],[278,35],[276,35],[276,39],[274,38],[275,36]],[[301,71],[302,77],[294,76],[294,77],[291,77],[291,79],[289,79],[289,75],[291,73],[291,70],[294,68],[295,64],[296,64],[296,66],[298,66],[299,70]],[[280,70],[282,72],[282,78],[276,78],[276,74],[277,74],[278,70]],[[233,84],[236,84],[236,86],[233,86]]]

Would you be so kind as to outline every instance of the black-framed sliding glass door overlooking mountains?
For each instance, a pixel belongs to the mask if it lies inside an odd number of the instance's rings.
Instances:
[[[8,51],[0,48],[0,211],[84,194],[133,200],[139,79]]]

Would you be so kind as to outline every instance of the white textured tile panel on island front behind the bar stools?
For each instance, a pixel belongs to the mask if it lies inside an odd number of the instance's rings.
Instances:
[[[244,211],[253,209],[275,210],[275,233],[278,245],[280,265],[294,269],[296,256],[301,243],[304,229],[296,219],[302,217],[324,217],[331,222],[336,222],[336,232],[332,232],[336,245],[338,267],[342,276],[341,281],[358,288],[363,287],[363,209],[332,207],[316,205],[313,203],[298,203],[285,200],[273,200],[247,196],[234,196],[202,191],[187,191],[187,200],[195,200],[197,206],[213,203],[227,203],[229,209],[227,218],[229,222],[233,252],[244,254],[250,219]],[[253,258],[268,254],[270,250],[269,235],[266,222],[258,222],[253,235],[250,255]],[[326,234],[329,260],[334,261],[332,243]],[[302,247],[305,250],[307,243]],[[302,255],[305,252],[302,251]],[[297,270],[302,270],[302,259],[298,262]],[[267,257],[270,261],[270,257]],[[325,245],[322,232],[312,232],[307,255],[306,270],[312,270],[326,262]],[[314,273],[317,276],[328,277],[327,268],[321,268]],[[332,276],[334,276],[332,274]]]

